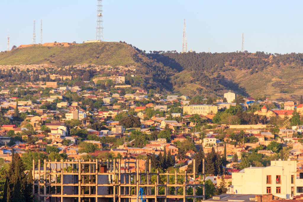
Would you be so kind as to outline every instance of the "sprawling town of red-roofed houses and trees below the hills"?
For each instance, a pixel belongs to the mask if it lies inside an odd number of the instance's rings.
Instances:
[[[151,160],[154,169],[189,172],[193,159],[204,158],[206,186],[214,187],[207,198],[226,192],[247,194],[242,187],[249,185],[238,180],[240,175],[258,167],[274,173],[270,169],[279,165],[291,167],[288,177],[295,184],[296,176],[297,184],[256,194],[280,194],[283,199],[303,194],[302,97],[276,101],[226,92],[221,97],[190,98],[147,88],[134,69],[96,67],[104,72],[94,75],[80,71],[85,65],[57,71],[39,66],[39,73],[37,66],[30,67],[10,67],[18,68],[14,74],[2,69],[2,165],[12,161],[13,152],[29,170],[32,159],[116,158],[122,164],[138,159],[142,171]],[[265,179],[267,187],[274,178]]]

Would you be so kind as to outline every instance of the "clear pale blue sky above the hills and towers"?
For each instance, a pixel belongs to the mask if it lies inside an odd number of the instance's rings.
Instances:
[[[36,42],[82,43],[96,38],[96,0],[2,0],[0,51]],[[303,1],[104,0],[104,41],[125,41],[150,50],[182,50],[186,19],[188,50],[196,52],[303,52]]]

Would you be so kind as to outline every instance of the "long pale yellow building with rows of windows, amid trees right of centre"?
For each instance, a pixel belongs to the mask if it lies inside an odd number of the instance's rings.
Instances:
[[[218,112],[218,106],[211,105],[211,104],[192,104],[187,105],[183,107],[183,114],[201,114],[201,115],[207,115],[207,114],[217,114]]]

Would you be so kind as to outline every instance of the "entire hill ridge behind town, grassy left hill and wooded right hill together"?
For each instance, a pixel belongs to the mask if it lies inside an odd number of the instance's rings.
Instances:
[[[249,53],[145,53],[125,42],[45,43],[21,45],[0,53],[0,65],[95,64],[133,65],[146,88],[164,87],[189,96],[238,94],[271,99],[303,95],[303,54]]]

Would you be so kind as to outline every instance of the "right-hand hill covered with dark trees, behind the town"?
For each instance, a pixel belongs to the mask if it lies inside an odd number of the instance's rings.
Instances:
[[[274,99],[303,94],[303,54],[154,51],[148,55],[178,71],[171,83],[181,93],[222,95],[233,90]]]

